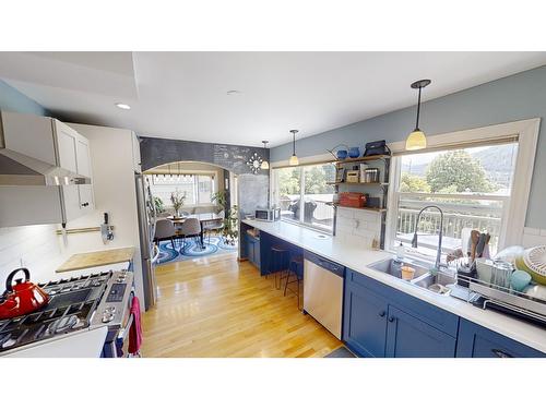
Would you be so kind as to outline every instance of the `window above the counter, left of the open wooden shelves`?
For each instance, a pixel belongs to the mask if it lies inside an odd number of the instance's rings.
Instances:
[[[333,164],[280,168],[273,170],[273,203],[281,217],[328,232],[333,231]]]

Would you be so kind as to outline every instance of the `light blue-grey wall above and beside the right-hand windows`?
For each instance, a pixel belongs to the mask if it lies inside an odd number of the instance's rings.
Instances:
[[[434,86],[434,84],[432,84]],[[423,105],[420,129],[434,135],[521,119],[542,118],[525,226],[546,228],[546,65],[492,81]],[[389,112],[296,142],[299,157],[321,155],[339,143],[403,141],[415,125],[415,107]],[[271,149],[272,161],[287,159],[292,145]]]

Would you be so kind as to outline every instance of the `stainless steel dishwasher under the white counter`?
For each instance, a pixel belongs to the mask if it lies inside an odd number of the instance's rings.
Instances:
[[[342,336],[344,278],[344,266],[305,252],[304,311],[337,339]]]

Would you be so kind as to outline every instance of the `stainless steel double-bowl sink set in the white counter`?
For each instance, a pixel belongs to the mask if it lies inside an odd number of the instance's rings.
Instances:
[[[442,296],[449,296],[450,289],[446,286],[456,282],[456,278],[454,275],[442,270],[436,272],[434,269],[434,265],[423,263],[413,258],[403,258],[402,261],[399,261],[395,257],[390,257],[380,262],[369,264],[368,267],[402,279],[402,265],[415,268],[414,278],[412,280],[408,280],[410,284],[424,288],[431,292],[436,292]]]

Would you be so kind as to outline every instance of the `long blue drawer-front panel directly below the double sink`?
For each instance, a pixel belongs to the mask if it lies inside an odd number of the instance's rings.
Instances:
[[[406,311],[408,314],[423,320],[427,324],[452,337],[456,337],[459,330],[459,316],[349,268],[347,268],[347,279],[356,286],[366,287],[385,297],[389,300],[389,304],[402,311]]]

